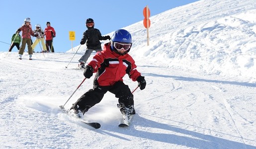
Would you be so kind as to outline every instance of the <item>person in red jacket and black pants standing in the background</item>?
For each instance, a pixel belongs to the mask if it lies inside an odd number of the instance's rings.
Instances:
[[[51,49],[51,52],[54,52],[53,48],[53,38],[56,36],[56,32],[54,28],[51,26],[50,22],[46,22],[47,27],[44,29],[44,35],[46,37],[45,39],[45,45],[47,52],[50,52],[49,47]]]

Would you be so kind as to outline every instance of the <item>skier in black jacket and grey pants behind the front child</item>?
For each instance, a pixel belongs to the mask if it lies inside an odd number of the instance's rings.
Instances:
[[[80,42],[81,45],[86,43],[86,51],[85,54],[80,58],[79,68],[85,69],[85,63],[90,57],[90,54],[93,50],[96,52],[102,51],[100,40],[110,40],[110,36],[101,36],[101,33],[98,29],[94,28],[94,21],[92,18],[88,18],[86,20],[87,30],[83,34],[83,38]]]

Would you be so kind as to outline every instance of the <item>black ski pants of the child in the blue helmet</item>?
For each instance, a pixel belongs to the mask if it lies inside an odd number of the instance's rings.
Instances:
[[[89,89],[83,94],[71,108],[76,109],[77,105],[79,105],[79,109],[85,113],[89,108],[99,103],[107,91],[115,94],[118,102],[123,103],[124,106],[134,105],[133,94],[129,86],[124,84],[123,81],[117,81],[111,86],[94,85],[93,89]]]

